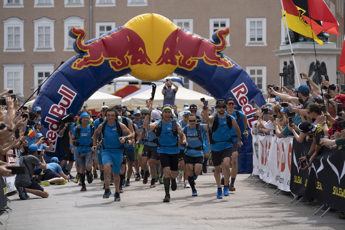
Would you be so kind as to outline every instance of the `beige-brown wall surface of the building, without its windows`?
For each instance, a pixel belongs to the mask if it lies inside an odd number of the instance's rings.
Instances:
[[[115,2],[116,6],[98,7],[100,0],[92,0],[92,19],[90,19],[90,1],[81,1],[82,4],[76,6],[82,7],[65,7],[68,0],[51,0],[54,7],[38,8],[36,7],[38,0],[11,0],[18,1],[19,4],[12,4],[13,7],[8,8],[7,0],[0,7],[0,90],[5,86],[4,74],[6,68],[8,70],[9,63],[23,63],[23,92],[22,96],[28,98],[33,90],[31,87],[37,85],[34,82],[34,65],[38,63],[54,63],[53,69],[57,68],[59,63],[67,61],[77,53],[73,50],[64,51],[64,20],[71,17],[79,17],[84,19],[83,24],[87,32],[85,41],[96,37],[96,23],[98,22],[115,22],[115,27],[123,26],[131,18],[143,13],[158,13],[171,21],[174,19],[193,19],[193,32],[202,37],[210,38],[210,18],[228,18],[230,27],[230,46],[223,51],[226,56],[234,60],[244,70],[247,67],[265,67],[266,75],[263,76],[263,91],[266,91],[267,84],[279,84],[279,59],[275,57],[273,50],[278,50],[281,43],[281,10],[278,0],[142,0],[147,6],[128,6],[132,4],[131,0],[110,0]],[[137,0],[138,1],[138,0]],[[49,1],[48,1],[49,2]],[[139,0],[140,2],[140,0]],[[146,3],[147,2],[147,3]],[[330,42],[337,42],[337,47],[342,46],[344,38],[344,0],[326,1],[328,5],[332,2],[336,8],[336,19],[340,23],[339,33],[342,38],[339,39],[331,34]],[[339,6],[337,5],[339,3]],[[2,3],[2,1],[1,1]],[[48,4],[49,5],[49,4]],[[68,4],[67,4],[68,5]],[[342,8],[342,10],[339,10]],[[23,49],[24,52],[4,52],[4,26],[6,20],[17,17],[23,22]],[[47,17],[55,20],[54,25],[54,49],[55,51],[34,52],[34,20]],[[265,18],[266,20],[266,46],[246,46],[246,19],[247,18]],[[92,30],[90,30],[90,20]],[[6,28],[5,28],[6,30]],[[92,35],[90,32],[92,31]],[[98,37],[98,36],[97,36]],[[339,57],[337,57],[339,62]],[[338,65],[338,64],[337,64]],[[340,78],[340,74],[339,74]],[[202,93],[205,90],[194,84],[193,89]],[[263,92],[265,93],[265,92]]]

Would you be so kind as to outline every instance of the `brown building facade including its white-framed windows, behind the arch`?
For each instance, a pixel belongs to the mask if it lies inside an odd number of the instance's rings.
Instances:
[[[331,34],[329,42],[341,48],[344,0],[326,3],[340,24],[341,34]],[[84,28],[87,41],[143,13],[161,14],[204,38],[229,27],[223,53],[250,74],[263,94],[267,84],[280,83],[282,70],[273,53],[285,42],[279,0],[3,0],[0,88],[13,88],[18,96],[28,98],[61,61],[76,55],[68,36],[72,26]],[[340,72],[337,77],[341,82]],[[184,82],[186,88],[205,93],[188,79]]]

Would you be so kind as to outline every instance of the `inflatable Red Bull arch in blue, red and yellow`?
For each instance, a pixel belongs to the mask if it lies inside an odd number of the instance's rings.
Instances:
[[[86,42],[85,30],[72,27],[69,35],[75,38],[73,47],[78,54],[52,74],[32,107],[42,107],[41,116],[45,118],[42,132],[46,132],[54,146],[50,155],[63,156],[58,117],[76,114],[99,88],[128,73],[141,80],[155,81],[175,72],[197,83],[216,99],[233,97],[250,125],[251,115],[256,111],[250,100],[257,104],[265,101],[249,75],[220,53],[226,47],[225,37],[229,33],[229,28],[219,29],[211,41],[159,14],[139,15],[124,26]],[[243,124],[240,128],[243,130]],[[251,152],[251,138],[243,140],[242,151]]]

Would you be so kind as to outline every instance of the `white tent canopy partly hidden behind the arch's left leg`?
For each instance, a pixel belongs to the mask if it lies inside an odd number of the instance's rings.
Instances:
[[[106,106],[110,107],[110,106],[115,106],[117,104],[121,104],[121,100],[122,100],[121,97],[117,97],[109,93],[96,91],[95,93],[92,94],[92,96],[88,100],[85,101],[85,103],[88,103],[89,110],[95,109],[97,111],[100,111],[103,105],[103,101],[105,101]],[[34,101],[35,100],[28,101],[25,105],[32,106]]]

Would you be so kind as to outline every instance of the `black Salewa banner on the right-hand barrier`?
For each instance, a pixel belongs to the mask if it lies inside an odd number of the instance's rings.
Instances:
[[[297,166],[298,158],[308,154],[311,144],[312,140],[293,142],[290,190],[345,212],[345,151],[324,147],[312,167],[303,171]]]

